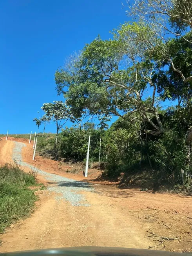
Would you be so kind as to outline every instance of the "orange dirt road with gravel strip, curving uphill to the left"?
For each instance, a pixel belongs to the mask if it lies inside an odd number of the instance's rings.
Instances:
[[[16,158],[25,171],[38,167],[38,179],[47,185],[38,191],[31,217],[0,236],[0,252],[87,245],[192,249],[190,197],[86,183],[83,176],[62,172],[55,161],[38,156],[33,162],[32,153],[27,143],[0,141],[0,163]]]

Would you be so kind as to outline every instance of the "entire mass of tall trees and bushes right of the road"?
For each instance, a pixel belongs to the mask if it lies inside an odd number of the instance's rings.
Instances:
[[[136,0],[127,14],[132,22],[114,29],[110,40],[96,37],[56,71],[57,92],[66,99],[65,118],[75,121],[87,111],[106,119],[119,116],[102,130],[101,159],[108,176],[121,174],[130,181],[133,174],[145,172],[153,187],[190,187],[191,1]],[[165,100],[173,107],[163,106]],[[77,149],[75,134],[83,138],[92,132],[98,134],[92,138],[92,157],[98,159],[100,127],[80,128],[62,132],[60,154],[79,158],[84,141]],[[68,151],[69,142],[77,155]]]

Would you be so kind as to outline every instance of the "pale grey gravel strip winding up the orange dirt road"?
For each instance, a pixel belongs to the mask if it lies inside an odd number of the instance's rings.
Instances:
[[[85,196],[79,194],[83,191],[93,191],[92,186],[88,182],[80,182],[73,179],[65,178],[57,174],[47,173],[42,171],[29,163],[22,161],[22,148],[26,145],[22,142],[14,142],[15,146],[13,149],[13,160],[17,163],[31,168],[33,171],[41,174],[46,180],[50,180],[50,185],[47,187],[49,191],[57,193],[56,199],[65,199],[70,202],[73,206],[90,206],[87,203]]]

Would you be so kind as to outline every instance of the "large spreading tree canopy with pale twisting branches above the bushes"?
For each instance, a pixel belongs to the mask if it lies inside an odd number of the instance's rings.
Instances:
[[[92,114],[126,118],[144,148],[148,134],[161,136],[167,128],[160,118],[159,100],[177,98],[184,114],[186,102],[190,105],[191,4],[134,0],[129,15],[134,22],[114,30],[111,40],[98,36],[85,45],[71,65],[55,73],[55,80],[58,94],[63,93],[77,116],[87,108]],[[188,146],[190,125],[186,136]]]

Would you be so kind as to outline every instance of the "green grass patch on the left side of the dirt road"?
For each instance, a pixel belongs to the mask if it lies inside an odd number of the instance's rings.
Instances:
[[[0,233],[30,214],[37,200],[29,189],[32,185],[36,185],[33,173],[25,173],[17,163],[0,167]]]

